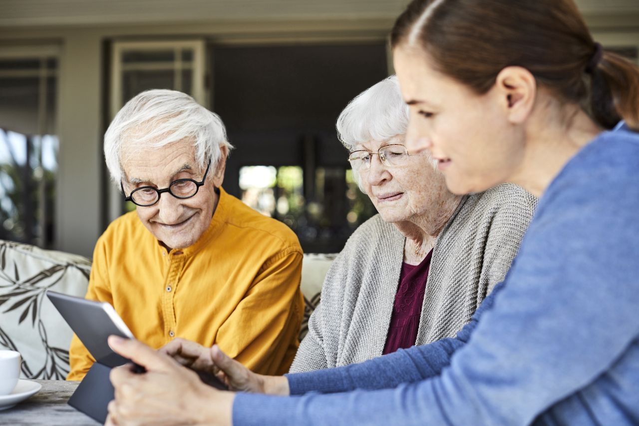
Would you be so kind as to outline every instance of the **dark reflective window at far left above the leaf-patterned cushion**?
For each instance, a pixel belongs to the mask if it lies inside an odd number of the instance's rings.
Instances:
[[[0,238],[52,246],[58,61],[0,61]]]

